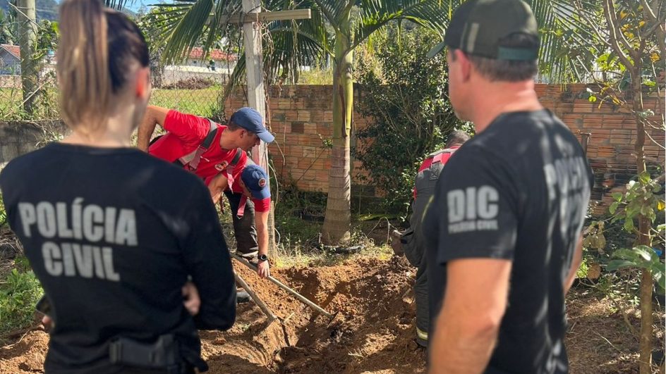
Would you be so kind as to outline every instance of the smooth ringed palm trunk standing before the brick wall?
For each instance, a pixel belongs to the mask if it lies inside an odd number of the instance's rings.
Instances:
[[[349,20],[345,23],[349,31]],[[325,244],[346,244],[351,238],[351,175],[349,175],[349,135],[353,111],[353,52],[351,32],[338,32],[333,66],[333,149],[329,171],[326,216],[322,229]]]

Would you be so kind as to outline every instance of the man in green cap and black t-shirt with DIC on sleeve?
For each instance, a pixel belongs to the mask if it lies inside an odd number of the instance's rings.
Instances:
[[[593,175],[534,90],[538,27],[520,0],[468,0],[444,42],[449,98],[476,136],[423,221],[430,373],[568,373],[564,297]],[[510,280],[510,282],[509,282]]]

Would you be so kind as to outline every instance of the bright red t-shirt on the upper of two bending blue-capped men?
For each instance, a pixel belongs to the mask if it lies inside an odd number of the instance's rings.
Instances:
[[[166,135],[153,143],[148,149],[148,153],[173,162],[199,147],[210,131],[210,121],[192,114],[169,111],[164,120],[164,130],[167,131]],[[238,149],[228,150],[219,146],[219,138],[224,130],[226,130],[226,126],[220,125],[210,147],[201,155],[195,174],[203,180],[210,180],[210,177],[219,174],[219,169],[224,166],[224,163],[231,163],[236,156]],[[234,168],[235,179],[241,177],[243,168],[238,166],[245,165],[246,158],[245,152],[241,152],[241,158],[238,158],[237,166]]]

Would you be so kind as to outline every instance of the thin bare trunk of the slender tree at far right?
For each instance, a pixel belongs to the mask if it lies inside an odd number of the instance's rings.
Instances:
[[[636,63],[631,74],[631,96],[633,96],[634,104],[634,118],[636,118],[636,174],[640,175],[646,171],[645,163],[645,121],[642,112],[643,108],[643,90],[641,81],[642,66]],[[650,229],[652,225],[648,218],[638,216],[638,244],[643,244],[652,247],[652,237],[650,236]],[[654,287],[654,280],[652,278],[652,271],[649,268],[643,269],[641,274],[641,337],[640,337],[640,352],[641,357],[638,360],[638,368],[641,374],[652,373],[652,335],[653,335],[653,315],[652,315],[652,289]]]

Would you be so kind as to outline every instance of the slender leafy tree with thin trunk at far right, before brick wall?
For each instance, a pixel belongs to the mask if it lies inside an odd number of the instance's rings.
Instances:
[[[658,84],[663,79],[666,57],[666,3],[662,0],[641,1],[574,1],[574,16],[593,28],[588,42],[575,46],[572,54],[581,61],[591,61],[586,68],[589,80],[598,83],[598,91],[590,89],[588,99],[599,105],[612,105],[631,113],[636,123],[637,180],[629,185],[626,194],[617,194],[611,206],[612,213],[624,219],[624,229],[636,235],[633,249],[618,251],[618,261],[612,268],[633,266],[641,268],[641,374],[651,373],[650,363],[653,340],[652,292],[655,281],[663,285],[663,263],[652,251],[655,211],[663,209],[663,199],[657,198],[660,182],[651,179],[646,168],[645,145],[650,137],[646,129],[665,129],[664,118],[643,104],[643,97],[657,95],[663,98]],[[576,32],[570,27],[569,32]],[[661,82],[663,85],[663,81]],[[663,148],[662,144],[659,144]],[[663,182],[663,176],[658,178]],[[662,195],[660,195],[662,196]],[[618,207],[624,207],[617,213]],[[636,225],[637,223],[637,225]]]

